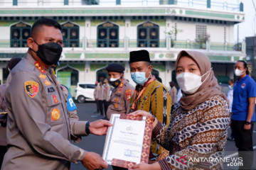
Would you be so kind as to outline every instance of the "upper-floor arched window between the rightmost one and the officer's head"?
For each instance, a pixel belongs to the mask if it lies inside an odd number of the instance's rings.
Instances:
[[[114,23],[102,23],[97,26],[97,47],[118,47],[119,27]]]

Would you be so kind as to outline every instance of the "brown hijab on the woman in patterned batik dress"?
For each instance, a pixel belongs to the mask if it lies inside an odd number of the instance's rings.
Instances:
[[[177,69],[178,61],[181,59],[181,57],[187,56],[191,57],[196,64],[198,64],[198,67],[201,71],[201,75],[206,74],[211,68],[210,60],[206,55],[203,55],[201,52],[196,51],[181,51],[178,53],[178,57],[175,63],[175,71]],[[206,81],[204,81],[206,79]],[[183,111],[191,111],[191,109],[196,108],[198,104],[203,103],[211,96],[220,95],[222,96],[226,101],[227,97],[220,89],[220,86],[218,85],[218,81],[214,76],[213,70],[210,71],[210,75],[207,77],[205,75],[202,77],[201,81],[203,84],[199,87],[199,89],[196,91],[195,94],[182,96],[180,99],[181,102],[181,108]]]

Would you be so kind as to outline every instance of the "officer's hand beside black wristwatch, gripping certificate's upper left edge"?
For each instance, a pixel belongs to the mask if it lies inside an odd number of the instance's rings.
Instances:
[[[96,120],[90,123],[90,133],[93,135],[106,135],[107,128],[112,126],[108,120]]]

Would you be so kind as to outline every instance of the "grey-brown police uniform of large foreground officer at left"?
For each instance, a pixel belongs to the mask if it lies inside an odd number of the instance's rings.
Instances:
[[[5,98],[9,149],[1,169],[70,169],[85,157],[70,132],[86,135],[86,122],[70,121],[54,74],[28,53],[9,74]]]

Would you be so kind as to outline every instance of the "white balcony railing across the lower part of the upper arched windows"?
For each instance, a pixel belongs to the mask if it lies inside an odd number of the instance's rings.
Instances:
[[[232,43],[223,43],[223,42],[208,42],[208,45],[206,43],[199,44],[196,41],[191,40],[174,40],[171,43],[166,43],[167,41],[170,41],[170,39],[166,40],[159,40],[158,44],[154,46],[154,48],[183,48],[183,49],[201,49],[201,50],[220,50],[220,51],[241,51],[242,48],[236,48],[234,44]],[[10,40],[0,40],[0,48],[9,48],[11,41]],[[112,45],[114,44],[114,45]],[[118,48],[135,48],[138,47],[137,40],[129,40],[129,38],[124,40],[119,40],[118,43],[110,42],[109,47],[100,47],[97,43],[97,40],[79,40],[77,42],[77,46],[75,47],[83,47],[84,49],[87,48],[112,48],[112,47],[118,47]],[[127,44],[127,45],[125,45]],[[78,46],[79,45],[79,46]],[[127,47],[126,47],[127,46]],[[75,48],[74,47],[74,48]],[[150,46],[149,46],[150,47]],[[64,47],[65,48],[65,47]],[[138,47],[142,48],[142,47]]]

